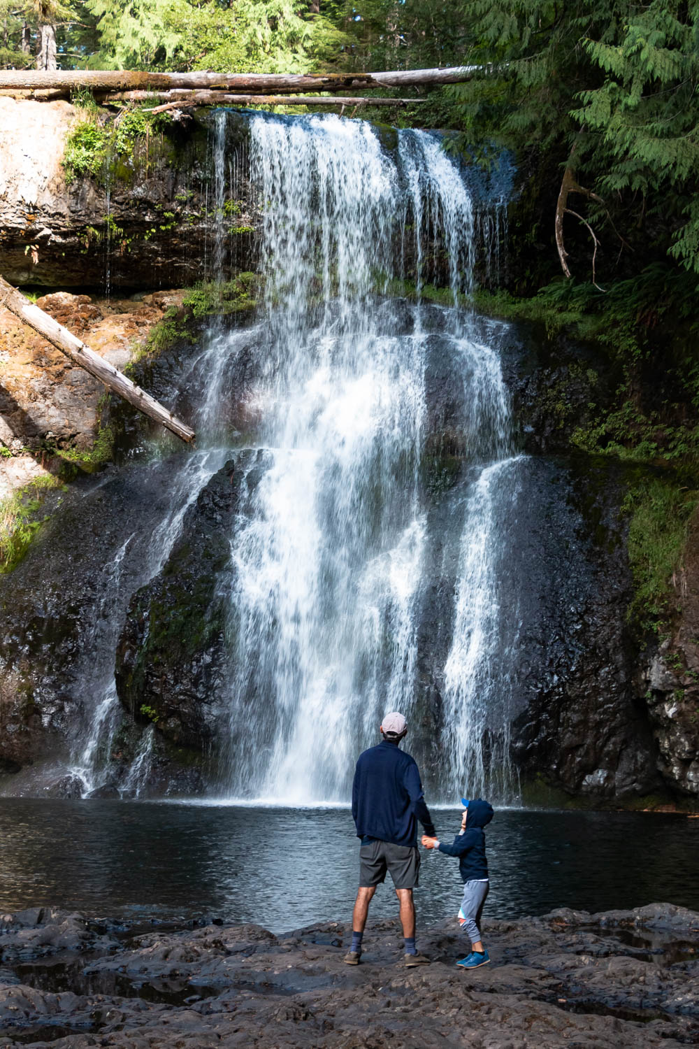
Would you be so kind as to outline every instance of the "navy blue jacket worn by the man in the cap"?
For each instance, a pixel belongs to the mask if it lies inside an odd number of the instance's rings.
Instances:
[[[384,740],[359,754],[352,784],[352,816],[358,838],[417,845],[417,820],[435,834],[415,759]]]

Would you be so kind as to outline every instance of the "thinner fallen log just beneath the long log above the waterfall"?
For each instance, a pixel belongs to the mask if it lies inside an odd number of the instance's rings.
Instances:
[[[230,94],[227,91],[114,91],[105,94],[103,102],[151,102],[160,100],[151,113],[167,109],[188,109],[190,106],[412,106],[420,99],[356,98],[342,94]]]

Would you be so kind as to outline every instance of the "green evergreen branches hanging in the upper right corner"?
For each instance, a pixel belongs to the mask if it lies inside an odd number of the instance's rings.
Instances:
[[[607,277],[634,266],[631,247],[646,264],[659,248],[699,272],[697,0],[471,0],[462,12],[464,59],[482,72],[452,90],[457,123],[466,140],[492,136],[530,164],[541,158],[549,180],[560,172],[564,270],[570,215],[595,254],[606,223],[617,249]]]

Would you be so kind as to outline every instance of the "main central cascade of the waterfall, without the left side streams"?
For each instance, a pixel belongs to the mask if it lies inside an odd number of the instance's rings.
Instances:
[[[471,287],[476,207],[457,162],[425,132],[399,132],[390,150],[362,122],[260,114],[250,164],[263,210],[256,400],[269,466],[231,536],[224,790],[344,800],[383,713],[417,716],[433,339],[419,293],[440,258],[454,307]],[[380,297],[411,270],[415,305]],[[482,685],[497,612],[497,499],[507,497],[490,478],[507,475],[509,410],[497,346],[463,309],[442,311],[440,324],[479,473],[465,496],[443,670],[441,778],[456,790],[464,775],[495,782],[486,731],[499,741],[499,782],[507,779],[507,730],[496,725],[498,704],[484,713]]]

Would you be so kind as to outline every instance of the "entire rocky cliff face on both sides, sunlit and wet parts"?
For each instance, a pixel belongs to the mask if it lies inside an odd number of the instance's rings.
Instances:
[[[0,272],[19,284],[63,287],[153,288],[205,277],[221,217],[211,206],[206,128],[197,121],[174,126],[149,143],[148,158],[136,149],[135,166],[115,165],[104,178],[66,185],[60,162],[75,120],[67,103],[0,99]],[[244,122],[231,120],[228,134],[230,149],[242,156]],[[243,176],[230,189],[224,210],[227,202],[232,223],[219,244],[224,276],[254,259],[249,231],[259,217]],[[245,232],[234,232],[240,230]],[[124,367],[167,306],[180,301],[181,295],[136,300],[58,293],[39,304]],[[56,452],[89,455],[102,388],[5,311],[0,333],[2,497],[54,470]],[[185,418],[189,394],[178,387],[187,385],[200,348],[177,346],[144,376],[145,385],[169,404],[177,402]],[[223,425],[253,432],[259,418],[247,395],[259,367],[254,337],[240,343],[233,363]],[[517,554],[499,570],[502,593],[524,595],[519,604],[504,602],[500,627],[526,652],[511,701],[512,753],[525,796],[551,800],[547,791],[553,788],[591,802],[654,794],[655,804],[680,798],[694,805],[699,521],[690,530],[676,580],[679,613],[660,645],[651,640],[641,648],[627,621],[633,581],[621,512],[624,470],[609,459],[571,454],[570,445],[575,427],[589,422],[592,402],[604,404],[617,377],[591,348],[551,342],[529,327],[505,348],[505,370],[520,447],[530,455],[518,467],[519,494],[501,521]],[[457,571],[449,537],[468,484],[468,461],[457,423],[461,385],[449,362],[433,358],[425,381],[433,563],[421,612],[415,748],[437,783],[439,755],[430,741],[441,727],[438,668],[451,629],[443,607]],[[118,425],[132,429],[131,416]],[[132,445],[138,444],[135,433]],[[217,580],[230,571],[228,536],[245,512],[250,478],[265,467],[250,454],[226,464],[197,502],[182,508],[181,535],[162,563],[153,561],[149,541],[171,496],[167,464],[108,471],[49,496],[46,509],[54,514],[35,549],[12,576],[0,576],[0,770],[16,776],[31,763],[68,753],[88,709],[83,679],[92,667],[84,640],[104,644],[105,601],[112,600],[105,595],[113,596],[110,580],[123,572],[128,583],[119,583],[115,634],[103,667],[111,672],[116,650],[122,723],[104,761],[114,783],[123,784],[148,726],[156,756],[148,787],[201,787],[222,723],[221,686],[232,650]],[[128,558],[122,561],[124,549]],[[116,615],[114,607],[110,614]]]

